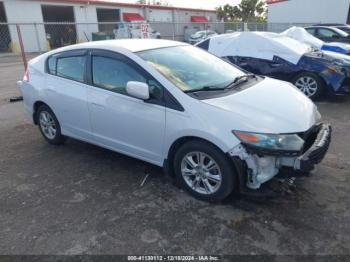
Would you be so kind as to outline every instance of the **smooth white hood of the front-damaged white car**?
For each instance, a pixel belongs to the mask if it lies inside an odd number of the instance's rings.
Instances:
[[[271,78],[237,93],[202,102],[224,110],[224,121],[230,121],[232,128],[240,131],[297,133],[316,122],[317,108],[309,98],[292,84]]]

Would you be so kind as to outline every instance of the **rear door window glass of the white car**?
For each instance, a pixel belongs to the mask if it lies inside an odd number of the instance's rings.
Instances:
[[[79,82],[84,81],[86,57],[71,56],[57,58],[56,75]]]

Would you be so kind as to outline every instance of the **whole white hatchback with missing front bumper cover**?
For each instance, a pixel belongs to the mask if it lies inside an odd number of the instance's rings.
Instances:
[[[175,41],[60,48],[31,60],[17,85],[49,143],[72,137],[164,167],[207,201],[256,190],[282,169],[310,171],[331,138],[293,85]]]

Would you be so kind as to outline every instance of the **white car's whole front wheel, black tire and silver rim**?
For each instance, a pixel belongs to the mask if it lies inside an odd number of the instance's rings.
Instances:
[[[199,159],[202,165],[198,164]],[[220,149],[201,140],[189,141],[178,149],[174,171],[185,190],[208,202],[225,199],[237,184],[237,173],[231,160]]]

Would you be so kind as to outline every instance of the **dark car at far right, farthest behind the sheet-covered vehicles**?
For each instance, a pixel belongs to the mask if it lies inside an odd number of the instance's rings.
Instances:
[[[314,37],[325,42],[341,42],[350,44],[350,35],[343,30],[331,26],[309,26],[305,27]]]

